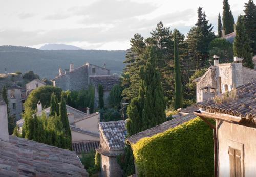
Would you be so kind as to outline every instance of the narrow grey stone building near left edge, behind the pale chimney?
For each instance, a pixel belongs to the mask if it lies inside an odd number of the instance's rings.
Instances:
[[[22,118],[23,106],[22,106],[22,92],[21,88],[13,84],[7,90],[8,94],[8,108],[10,110],[10,115],[16,117],[16,121]]]

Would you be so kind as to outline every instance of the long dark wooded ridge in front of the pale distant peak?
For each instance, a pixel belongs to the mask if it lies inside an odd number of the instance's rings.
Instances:
[[[59,68],[69,69],[71,63],[75,68],[89,62],[106,68],[111,73],[121,73],[125,64],[126,51],[115,50],[38,50],[29,47],[0,46],[0,73],[34,71],[40,78],[53,79]]]

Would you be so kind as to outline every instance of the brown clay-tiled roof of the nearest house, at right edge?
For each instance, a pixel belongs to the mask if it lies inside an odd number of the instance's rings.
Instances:
[[[237,99],[216,103],[214,98],[197,104],[210,113],[223,113],[241,117],[242,121],[256,124],[256,80],[237,87]]]

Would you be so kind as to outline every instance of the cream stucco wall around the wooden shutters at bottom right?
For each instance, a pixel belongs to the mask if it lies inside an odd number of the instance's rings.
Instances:
[[[230,175],[229,147],[241,151],[241,164],[242,167],[244,166],[244,170],[242,169],[242,171],[244,171],[244,176],[255,176],[256,129],[220,121],[218,124],[219,176]],[[242,163],[243,160],[244,163]]]

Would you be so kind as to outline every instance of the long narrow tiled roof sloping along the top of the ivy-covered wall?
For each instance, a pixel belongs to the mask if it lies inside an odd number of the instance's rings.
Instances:
[[[177,127],[178,125],[185,123],[185,122],[187,122],[191,119],[194,119],[196,117],[197,116],[194,114],[188,114],[186,116],[180,116],[180,117],[174,118],[174,119],[166,121],[160,125],[157,125],[156,127],[144,130],[144,131],[139,132],[133,136],[130,136],[129,138],[127,138],[127,141],[129,141],[130,143],[136,143],[141,138],[152,137],[153,135],[164,132],[164,131],[168,130],[169,128]]]

